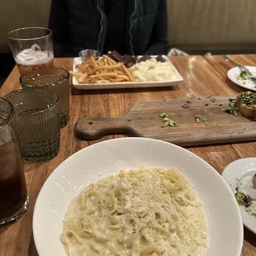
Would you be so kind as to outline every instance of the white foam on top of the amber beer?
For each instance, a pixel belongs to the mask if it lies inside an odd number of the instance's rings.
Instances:
[[[41,50],[39,45],[34,44],[30,49],[18,53],[15,61],[21,65],[38,65],[49,63],[52,59],[54,59],[53,53],[48,50]]]

